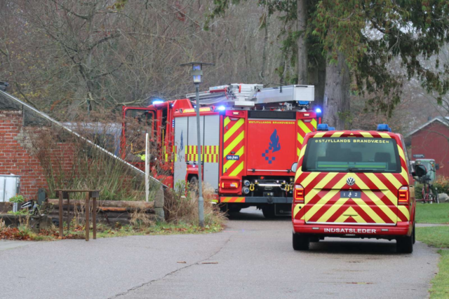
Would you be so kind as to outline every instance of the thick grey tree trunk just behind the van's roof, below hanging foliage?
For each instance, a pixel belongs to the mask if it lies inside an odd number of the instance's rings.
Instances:
[[[348,129],[349,87],[351,76],[342,53],[336,64],[326,62],[326,86],[324,89],[323,123],[337,130]]]

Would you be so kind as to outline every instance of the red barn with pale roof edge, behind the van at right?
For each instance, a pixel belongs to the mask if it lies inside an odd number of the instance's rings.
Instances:
[[[435,159],[437,176],[449,176],[449,118],[434,118],[407,135],[411,138],[410,160]]]

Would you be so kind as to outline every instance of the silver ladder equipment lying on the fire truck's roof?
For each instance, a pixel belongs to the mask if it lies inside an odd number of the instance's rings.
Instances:
[[[262,84],[220,85],[199,93],[201,105],[226,105],[236,107],[272,106],[289,103],[296,106],[309,106],[314,101],[314,85],[286,85],[276,88],[263,88]],[[186,95],[195,101],[196,94]]]

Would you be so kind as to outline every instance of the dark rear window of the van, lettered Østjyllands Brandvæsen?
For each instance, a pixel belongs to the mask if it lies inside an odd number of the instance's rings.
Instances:
[[[401,172],[394,139],[311,138],[302,162],[303,172]]]

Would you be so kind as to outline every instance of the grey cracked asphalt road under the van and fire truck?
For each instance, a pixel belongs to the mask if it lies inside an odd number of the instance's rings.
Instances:
[[[34,242],[0,251],[0,297],[428,297],[438,254],[425,244],[398,254],[394,241],[326,239],[298,252],[289,219],[267,221],[246,210],[216,234]]]

